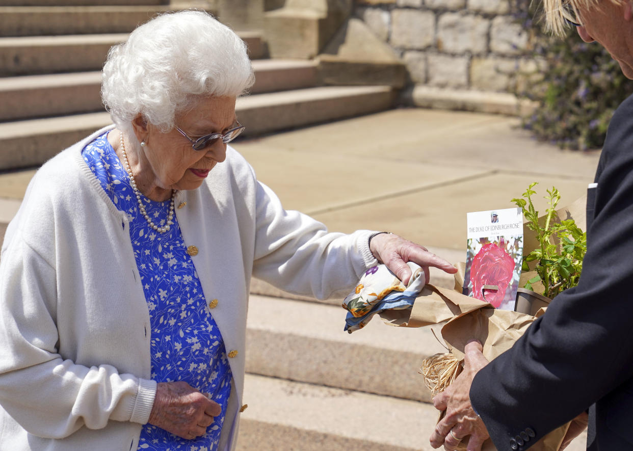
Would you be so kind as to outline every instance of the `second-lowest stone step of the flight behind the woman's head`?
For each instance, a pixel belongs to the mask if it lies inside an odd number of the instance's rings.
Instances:
[[[314,87],[310,61],[253,61],[253,93]],[[0,121],[103,111],[101,72],[0,78]]]

